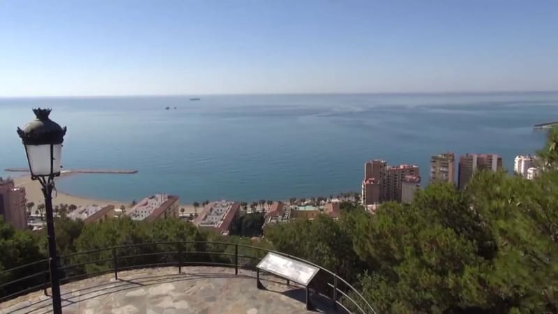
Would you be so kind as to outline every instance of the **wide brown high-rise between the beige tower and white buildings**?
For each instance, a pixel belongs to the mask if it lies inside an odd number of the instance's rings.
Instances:
[[[496,154],[466,154],[459,158],[458,188],[464,189],[478,170],[503,169],[502,157]]]

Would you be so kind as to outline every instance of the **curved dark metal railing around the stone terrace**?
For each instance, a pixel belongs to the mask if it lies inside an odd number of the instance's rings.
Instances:
[[[376,314],[359,291],[332,271],[296,256],[245,244],[172,241],[99,248],[60,256],[59,271],[61,283],[110,272],[118,279],[119,271],[162,266],[178,267],[179,274],[186,266],[234,267],[234,273],[238,274],[239,269],[255,270],[257,262],[269,252],[317,267],[319,272],[310,283],[310,289],[331,299],[333,306],[349,313]],[[46,294],[50,287],[49,274],[47,259],[0,271],[0,302],[41,289]],[[6,277],[7,282],[2,283]]]

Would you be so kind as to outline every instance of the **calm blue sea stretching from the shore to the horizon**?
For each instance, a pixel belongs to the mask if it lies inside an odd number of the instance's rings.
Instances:
[[[33,107],[68,127],[66,169],[138,171],[59,178],[58,190],[191,203],[358,191],[372,158],[418,165],[423,185],[444,151],[500,154],[513,171],[516,155],[543,147],[533,125],[558,120],[558,92],[0,98],[0,176],[26,166],[15,130]]]

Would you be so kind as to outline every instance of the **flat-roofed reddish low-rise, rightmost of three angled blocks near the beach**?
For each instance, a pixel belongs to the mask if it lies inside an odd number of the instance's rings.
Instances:
[[[215,230],[219,234],[228,235],[232,220],[239,214],[240,203],[221,200],[207,204],[202,213],[194,220],[200,229]]]

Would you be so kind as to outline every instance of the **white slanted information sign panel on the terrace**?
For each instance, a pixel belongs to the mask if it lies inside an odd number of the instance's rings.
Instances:
[[[315,266],[271,252],[257,264],[257,268],[301,285],[308,285],[319,271]]]

